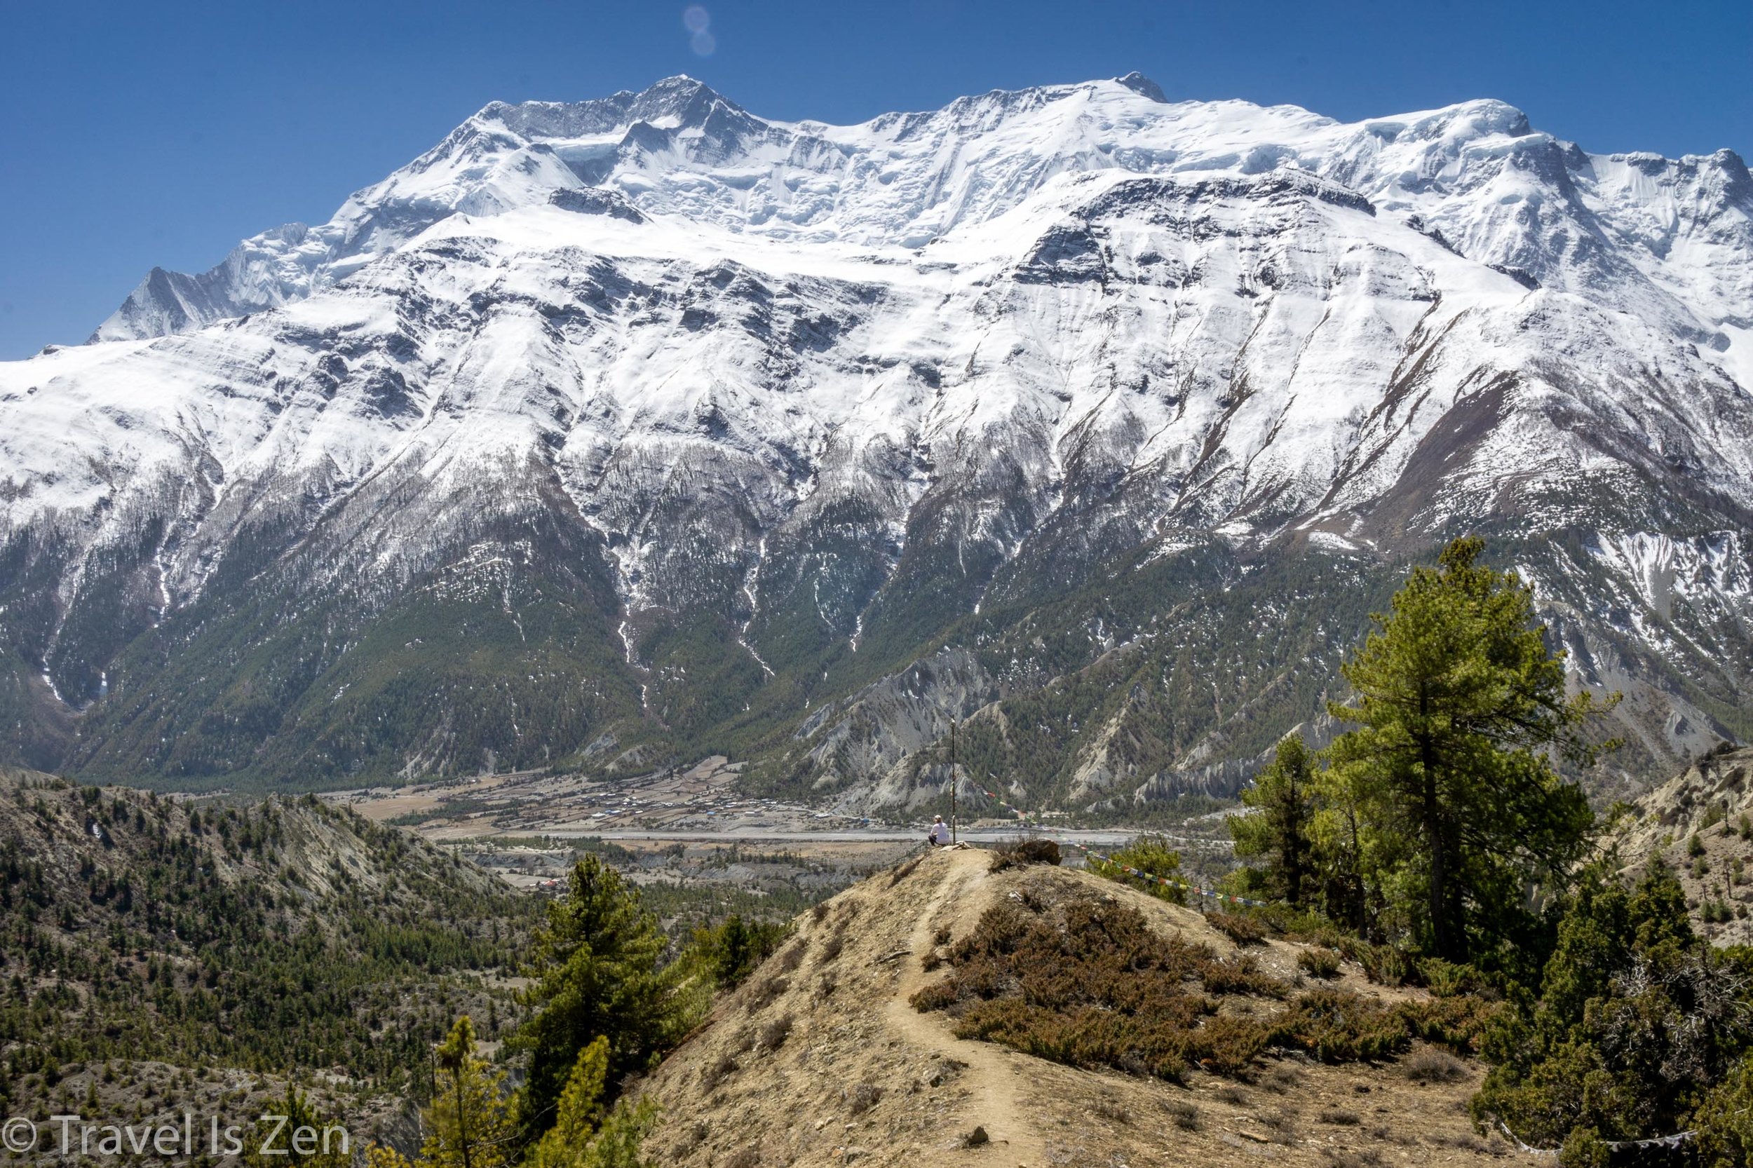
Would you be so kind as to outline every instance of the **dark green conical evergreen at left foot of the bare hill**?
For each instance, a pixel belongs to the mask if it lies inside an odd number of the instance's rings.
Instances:
[[[621,873],[596,856],[573,865],[564,900],[549,905],[524,991],[533,1008],[515,1036],[529,1052],[519,1131],[529,1142],[554,1126],[578,1052],[608,1042],[610,1084],[645,1070],[678,1035],[677,973],[657,968],[666,940]]]

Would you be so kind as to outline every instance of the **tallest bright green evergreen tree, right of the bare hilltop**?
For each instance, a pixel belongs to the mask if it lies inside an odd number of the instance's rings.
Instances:
[[[1455,540],[1439,568],[1413,570],[1343,666],[1355,698],[1331,705],[1357,724],[1332,744],[1334,779],[1359,805],[1360,837],[1387,837],[1360,851],[1390,865],[1390,907],[1451,961],[1532,937],[1530,891],[1565,882],[1593,824],[1551,754],[1592,765],[1585,728],[1600,707],[1565,696],[1564,654],[1534,624],[1530,589],[1478,565],[1481,549]]]

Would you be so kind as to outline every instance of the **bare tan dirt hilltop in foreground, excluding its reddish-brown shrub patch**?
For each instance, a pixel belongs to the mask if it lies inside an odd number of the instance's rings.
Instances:
[[[798,933],[719,1003],[692,1040],[643,1084],[664,1105],[649,1143],[666,1164],[1288,1164],[1495,1163],[1467,1100],[1483,1075],[1411,1043],[1401,1058],[1324,1063],[1269,1054],[1239,1073],[1197,1066],[1171,1082],[1082,1070],[959,1038],[915,996],[952,972],[947,956],[994,908],[1052,915],[1068,907],[1132,910],[1166,944],[1224,968],[1301,982],[1304,945],[1245,951],[1189,908],[1040,865],[992,872],[987,851],[943,851],[878,875],[799,919]],[[1068,938],[1066,945],[1078,940]],[[1309,982],[1313,986],[1313,982]],[[1366,1008],[1425,998],[1387,989],[1345,963],[1324,982]],[[1232,993],[1220,1017],[1276,1010]],[[1213,1024],[1211,1021],[1206,1022]]]

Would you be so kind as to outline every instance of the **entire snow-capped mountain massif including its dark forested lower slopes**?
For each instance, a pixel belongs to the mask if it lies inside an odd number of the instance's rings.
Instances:
[[[1753,723],[1753,179],[1499,102],[1134,75],[859,126],[494,103],[0,365],[14,752],[1232,789],[1408,556],[1536,580],[1636,758]],[[77,716],[75,716],[75,710]]]

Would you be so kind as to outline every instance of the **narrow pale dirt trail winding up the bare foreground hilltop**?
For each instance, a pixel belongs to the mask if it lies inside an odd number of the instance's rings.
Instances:
[[[992,852],[957,851],[950,856],[950,863],[954,865],[950,875],[940,882],[936,894],[919,914],[919,924],[913,926],[912,954],[905,963],[901,982],[885,1005],[885,1019],[910,1043],[968,1066],[955,1080],[969,1093],[962,1108],[964,1129],[957,1135],[966,1135],[980,1124],[992,1138],[992,1147],[1003,1152],[1006,1164],[1045,1168],[1047,1143],[1031,1124],[1029,1108],[1022,1103],[1018,1063],[1026,1056],[990,1042],[957,1038],[950,1033],[945,1014],[920,1014],[908,1001],[938,977],[920,966],[920,958],[936,947],[936,931],[947,926],[954,937],[961,937],[989,907],[992,889],[987,870]],[[948,973],[948,968],[943,973]]]

